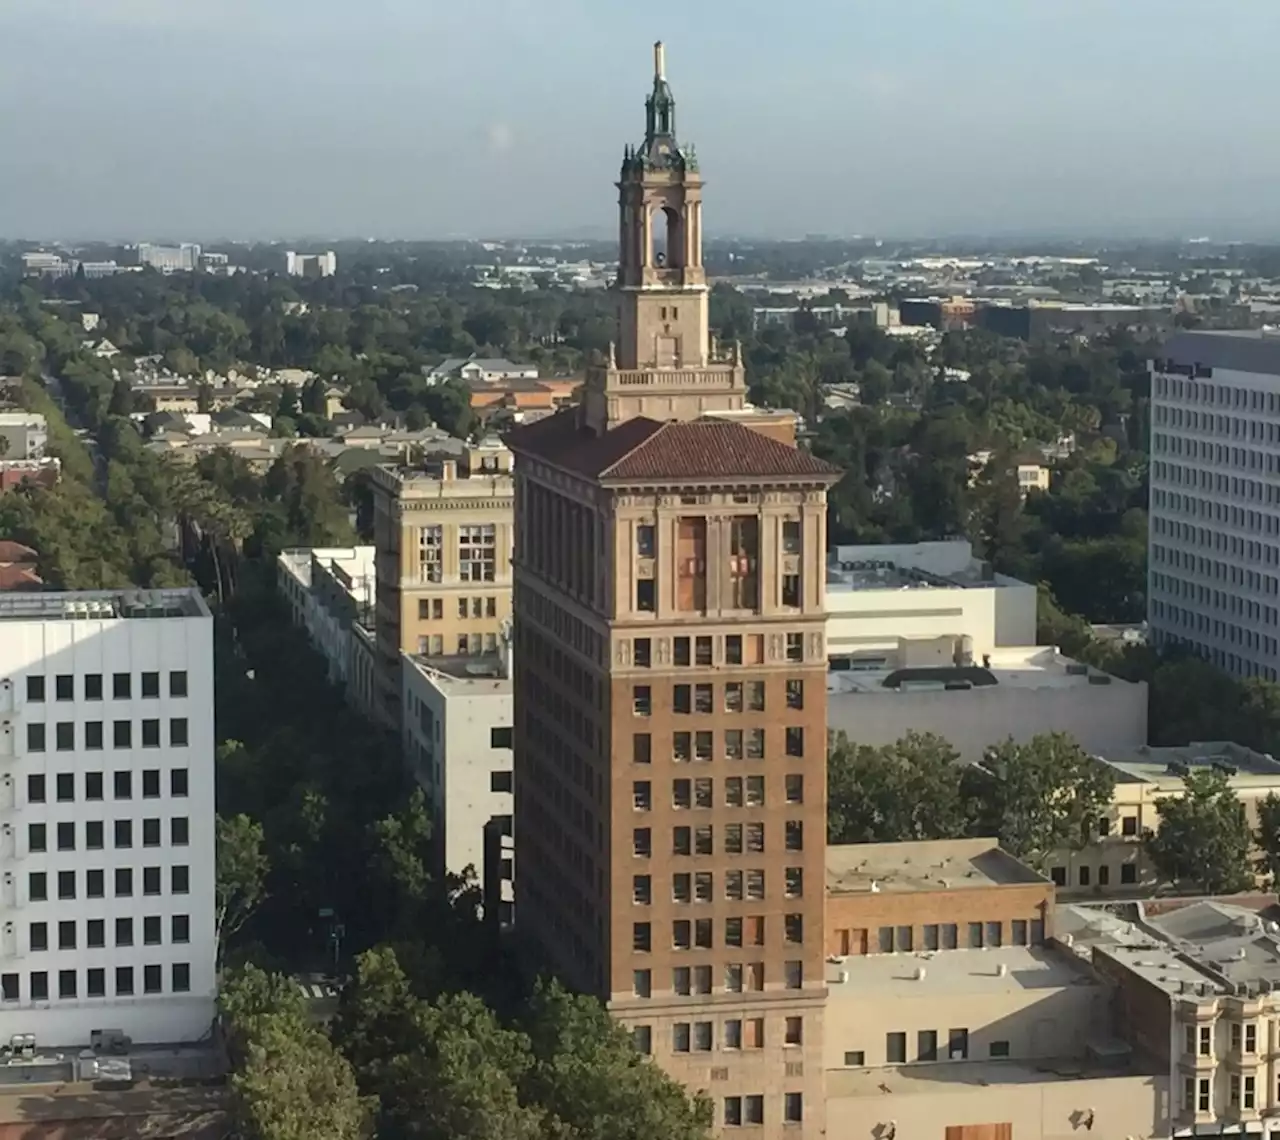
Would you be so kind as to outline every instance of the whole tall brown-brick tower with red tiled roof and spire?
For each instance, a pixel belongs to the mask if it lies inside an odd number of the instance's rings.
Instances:
[[[517,925],[716,1102],[823,1130],[826,494],[708,331],[662,46],[620,189],[618,343],[516,429]]]

